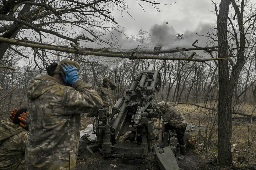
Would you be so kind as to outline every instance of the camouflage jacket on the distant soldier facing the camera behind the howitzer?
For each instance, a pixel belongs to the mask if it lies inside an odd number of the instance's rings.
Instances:
[[[109,82],[108,86],[103,85],[102,83],[98,85],[98,94],[100,95],[102,101],[104,102],[104,106],[112,105],[112,97],[111,97],[111,90],[117,88],[115,82]]]

